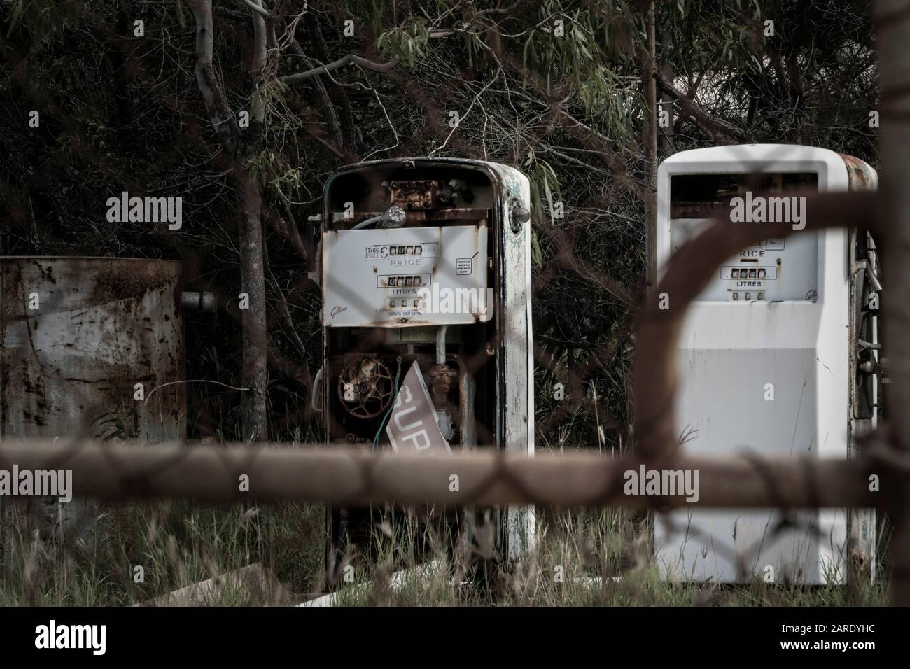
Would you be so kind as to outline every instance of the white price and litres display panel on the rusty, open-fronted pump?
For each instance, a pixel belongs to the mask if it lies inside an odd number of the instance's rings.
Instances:
[[[490,320],[487,227],[323,234],[326,327],[407,327]]]

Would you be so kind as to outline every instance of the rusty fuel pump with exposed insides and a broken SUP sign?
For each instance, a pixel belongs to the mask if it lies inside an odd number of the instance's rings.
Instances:
[[[324,351],[313,408],[329,447],[533,454],[530,218],[527,177],[495,163],[383,160],[329,177],[308,229]],[[422,423],[394,411],[420,396],[413,416],[435,424],[408,433]],[[330,582],[345,552],[369,550],[379,518],[327,509]],[[445,518],[460,541],[492,532],[503,563],[533,540],[531,507]]]

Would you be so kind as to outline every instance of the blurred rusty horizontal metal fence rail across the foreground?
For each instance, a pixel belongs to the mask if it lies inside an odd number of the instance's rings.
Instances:
[[[635,457],[603,458],[596,453],[548,453],[531,459],[482,449],[436,457],[282,444],[187,447],[16,441],[0,448],[0,468],[15,464],[21,470],[72,471],[75,495],[112,501],[174,497],[351,505],[882,507],[886,497],[869,492],[869,472],[896,469],[873,458],[675,458],[665,466],[701,472],[700,499],[686,502],[683,495],[625,494],[623,473],[644,463]],[[452,476],[458,477],[457,491],[451,490]]]

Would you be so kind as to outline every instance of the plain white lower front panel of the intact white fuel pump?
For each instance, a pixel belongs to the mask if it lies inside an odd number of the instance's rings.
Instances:
[[[692,320],[702,327],[710,322],[721,326],[725,319],[719,311],[696,312]],[[793,313],[794,309],[784,308],[782,314],[773,313],[773,307],[768,311],[768,318],[754,319],[752,326],[773,330],[781,321],[787,322],[787,317],[795,317],[803,323],[800,329],[817,332],[817,311],[802,317]],[[697,339],[694,333],[689,334]],[[770,350],[679,350],[685,390],[677,397],[676,411],[683,438],[690,440],[683,446],[686,453],[718,457],[745,451],[772,457],[814,457],[820,449],[819,439],[826,448],[834,442],[844,443],[845,435],[819,434],[818,362],[813,342],[808,339],[802,342],[807,348],[799,348],[800,342],[779,341],[781,346]],[[710,411],[705,411],[706,406]],[[799,573],[802,580],[819,583],[821,563],[827,558],[821,554],[826,547],[820,545],[818,537],[834,532],[836,544],[842,545],[843,531],[834,527],[833,517],[823,514],[816,519],[815,515],[805,513],[800,519],[821,523],[818,534],[788,530],[777,535],[775,530],[783,517],[776,510],[671,513],[667,520],[672,530],[668,532],[661,525],[655,529],[662,573],[677,573],[696,581],[737,582],[743,580],[741,568],[750,575],[763,576],[765,568],[772,566],[778,577]],[[843,522],[843,515],[838,521]]]

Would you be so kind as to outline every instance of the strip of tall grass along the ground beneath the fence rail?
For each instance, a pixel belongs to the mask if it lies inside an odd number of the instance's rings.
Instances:
[[[887,578],[837,585],[673,583],[650,558],[645,516],[623,510],[540,512],[537,544],[522,563],[494,569],[482,528],[470,545],[464,526],[418,522],[389,513],[369,552],[350,550],[339,571],[341,605],[796,605],[887,603]],[[264,509],[144,502],[103,509],[84,540],[43,538],[13,505],[7,518],[0,605],[126,605],[261,563],[291,596],[323,588],[324,508],[278,504]],[[420,569],[413,569],[424,565]],[[429,567],[426,565],[430,565]],[[137,582],[136,567],[144,579]],[[401,570],[410,572],[395,578]],[[476,577],[487,569],[488,578]],[[242,588],[207,601],[252,603]]]

